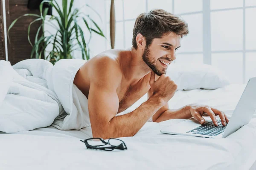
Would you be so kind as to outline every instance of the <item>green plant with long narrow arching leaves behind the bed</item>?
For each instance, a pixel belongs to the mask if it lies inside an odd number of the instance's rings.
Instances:
[[[79,48],[81,50],[82,59],[90,59],[90,50],[88,48],[88,43],[90,42],[90,38],[92,33],[99,34],[102,37],[105,37],[101,28],[97,25],[97,23],[87,14],[84,14],[78,8],[73,7],[74,0],[70,0],[68,6],[68,0],[62,0],[62,8],[58,5],[56,0],[43,0],[39,6],[40,15],[37,14],[24,14],[17,19],[15,19],[8,29],[8,39],[9,39],[9,30],[14,26],[18,19],[25,16],[35,16],[37,17],[33,20],[28,27],[28,40],[32,45],[31,58],[35,54],[35,58],[41,58],[42,54],[44,54],[45,49],[48,45],[52,46],[52,50],[49,51],[49,54],[44,55],[44,59],[50,61],[52,64],[55,64],[59,59],[67,59],[73,58],[72,52]],[[52,8],[57,11],[56,16],[47,17],[47,12],[49,8],[44,8],[43,4],[49,3]],[[88,8],[90,6],[86,5]],[[93,10],[96,12],[95,10]],[[99,14],[98,14],[99,15]],[[84,37],[84,31],[81,29],[81,24],[78,24],[78,20],[82,20],[83,24],[85,24],[89,34],[87,35],[87,39]],[[33,23],[42,21],[41,26],[39,26],[34,45],[30,41],[29,33],[30,27]],[[57,26],[52,23],[55,21]],[[45,35],[44,24],[50,24],[53,28],[56,29],[56,33],[52,34],[48,31],[48,36]],[[40,31],[43,32],[41,36],[39,36]],[[9,39],[10,40],[10,39]]]

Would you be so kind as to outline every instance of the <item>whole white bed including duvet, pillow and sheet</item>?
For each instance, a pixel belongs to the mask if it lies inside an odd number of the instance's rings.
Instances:
[[[68,118],[83,116],[72,109],[78,106],[74,99],[79,96],[79,91],[73,93],[72,78],[78,70],[74,65],[80,67],[84,62],[67,59],[53,66],[43,59],[28,59],[11,66],[0,61],[0,79],[5,80],[0,81],[0,169],[256,169],[256,114],[248,125],[224,139],[163,134],[161,127],[185,119],[160,123],[149,119],[136,135],[120,138],[128,150],[86,149],[80,139],[92,136],[91,127],[77,127],[76,120],[85,122],[84,119],[72,119],[70,123],[65,122],[67,115],[62,117],[62,113],[67,113]],[[63,72],[61,67],[66,70]],[[175,64],[167,74],[178,85],[169,101],[171,109],[200,103],[230,117],[245,88],[243,84],[230,84],[223,73],[210,65]],[[60,83],[60,79],[66,82]],[[83,102],[87,106],[84,95],[80,97],[83,99],[76,98],[76,104]],[[116,116],[130,113],[145,100],[143,96]]]

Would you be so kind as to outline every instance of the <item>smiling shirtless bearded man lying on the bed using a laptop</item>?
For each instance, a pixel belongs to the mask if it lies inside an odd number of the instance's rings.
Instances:
[[[186,22],[179,17],[152,10],[137,17],[131,49],[104,51],[84,63],[74,84],[88,99],[93,137],[134,136],[151,117],[153,122],[194,117],[204,124],[202,116],[207,113],[215,125],[216,115],[226,125],[227,116],[209,106],[168,107],[177,85],[166,76],[166,69],[176,59],[181,38],[188,33]],[[146,93],[148,100],[140,107],[116,116]]]

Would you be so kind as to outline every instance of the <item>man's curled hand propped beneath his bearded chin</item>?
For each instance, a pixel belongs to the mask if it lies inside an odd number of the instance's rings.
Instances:
[[[177,85],[169,76],[162,74],[157,81],[155,81],[155,73],[151,71],[149,85],[153,95],[157,95],[166,104],[175,94]]]

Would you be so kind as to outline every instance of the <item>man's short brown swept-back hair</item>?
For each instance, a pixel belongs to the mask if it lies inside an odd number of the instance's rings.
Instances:
[[[189,34],[188,24],[180,17],[163,9],[142,13],[136,18],[134,24],[132,45],[135,49],[138,48],[136,36],[139,33],[145,37],[146,46],[148,46],[154,38],[161,38],[170,32],[174,32],[182,38]]]

